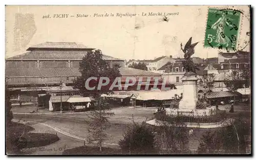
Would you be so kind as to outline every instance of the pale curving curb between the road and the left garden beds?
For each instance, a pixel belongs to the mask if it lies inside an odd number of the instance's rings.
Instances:
[[[71,137],[71,138],[74,138],[74,139],[82,140],[82,141],[87,141],[87,139],[85,139],[85,138],[81,138],[79,136],[71,135],[69,132],[63,131],[63,130],[61,130],[59,128],[56,128],[56,127],[52,127],[52,126],[50,126],[48,124],[38,123],[38,122],[34,122],[34,121],[22,121],[22,122],[19,122],[17,119],[12,119],[12,121],[13,122],[18,122],[18,123],[23,123],[23,124],[26,124],[26,122],[28,122],[28,123],[36,123],[36,124],[45,125],[45,126],[47,126],[49,128],[52,128],[52,129],[56,130],[57,132],[60,132],[60,134],[62,134],[62,135],[65,135],[65,136],[68,136],[68,137]],[[119,146],[118,144],[111,144],[111,143],[103,143],[103,144]]]

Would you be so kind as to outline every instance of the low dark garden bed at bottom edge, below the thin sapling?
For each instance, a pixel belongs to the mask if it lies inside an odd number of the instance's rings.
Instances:
[[[99,151],[99,147],[95,146],[80,146],[71,149],[67,149],[62,152],[63,155],[91,155],[91,154],[122,154],[120,149],[102,147],[102,151]]]

